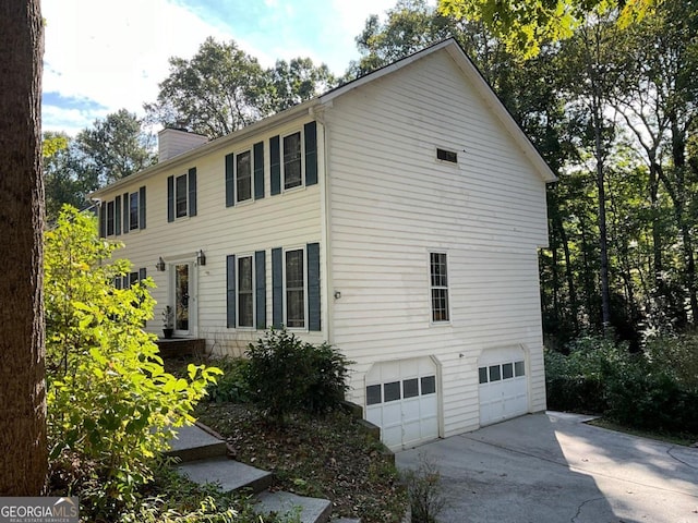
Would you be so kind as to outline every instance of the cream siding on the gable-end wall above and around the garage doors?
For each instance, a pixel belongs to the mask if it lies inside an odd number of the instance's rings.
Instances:
[[[537,247],[545,184],[446,51],[333,100],[325,112],[333,341],[357,362],[433,355],[443,427],[478,426],[478,357],[522,345],[529,410],[544,409]],[[436,149],[458,154],[457,165]],[[429,253],[448,256],[450,320],[431,323]]]

